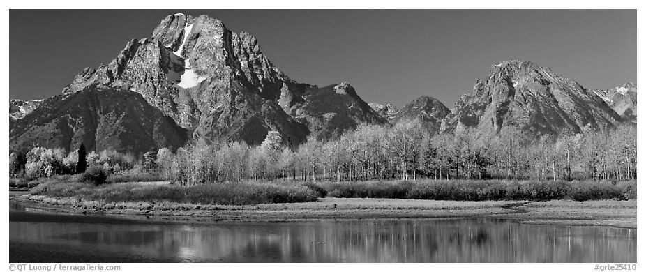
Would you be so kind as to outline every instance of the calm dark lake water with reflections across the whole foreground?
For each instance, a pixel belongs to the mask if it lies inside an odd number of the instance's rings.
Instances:
[[[47,220],[44,220],[47,221]],[[11,221],[10,242],[163,262],[636,262],[636,229],[484,218],[217,225]],[[11,259],[10,249],[10,259]],[[87,262],[92,262],[88,257]],[[12,262],[20,260],[11,259]],[[65,262],[47,259],[41,262]]]

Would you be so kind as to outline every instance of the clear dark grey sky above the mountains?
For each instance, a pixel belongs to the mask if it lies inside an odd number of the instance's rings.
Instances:
[[[636,10],[10,10],[10,98],[46,98],[173,13],[206,14],[292,79],[347,80],[368,102],[447,107],[490,66],[534,61],[591,89],[636,81]]]

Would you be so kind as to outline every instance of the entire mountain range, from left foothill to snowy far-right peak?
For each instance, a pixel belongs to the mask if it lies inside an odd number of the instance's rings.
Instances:
[[[402,109],[366,103],[348,82],[296,82],[254,36],[220,20],[168,15],[149,38],[126,43],[108,64],[85,68],[61,94],[10,100],[10,149],[33,146],[142,153],[190,139],[260,144],[270,130],[287,146],[330,139],[362,123],[419,121],[429,133],[506,126],[528,135],[579,132],[636,120],[636,84],[592,91],[529,61],[504,61],[452,109],[430,96]]]

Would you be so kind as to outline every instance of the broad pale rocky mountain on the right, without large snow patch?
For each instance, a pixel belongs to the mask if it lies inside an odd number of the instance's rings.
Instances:
[[[599,96],[549,68],[504,61],[478,80],[442,121],[442,130],[476,128],[486,135],[512,126],[540,137],[578,133],[583,126],[614,127],[622,120]]]

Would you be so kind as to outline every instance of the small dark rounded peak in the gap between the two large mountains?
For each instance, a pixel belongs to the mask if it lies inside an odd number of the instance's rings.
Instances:
[[[435,134],[440,131],[442,119],[449,113],[451,113],[449,108],[444,106],[440,100],[430,96],[421,96],[400,109],[391,122],[401,123],[417,120],[429,133]]]

